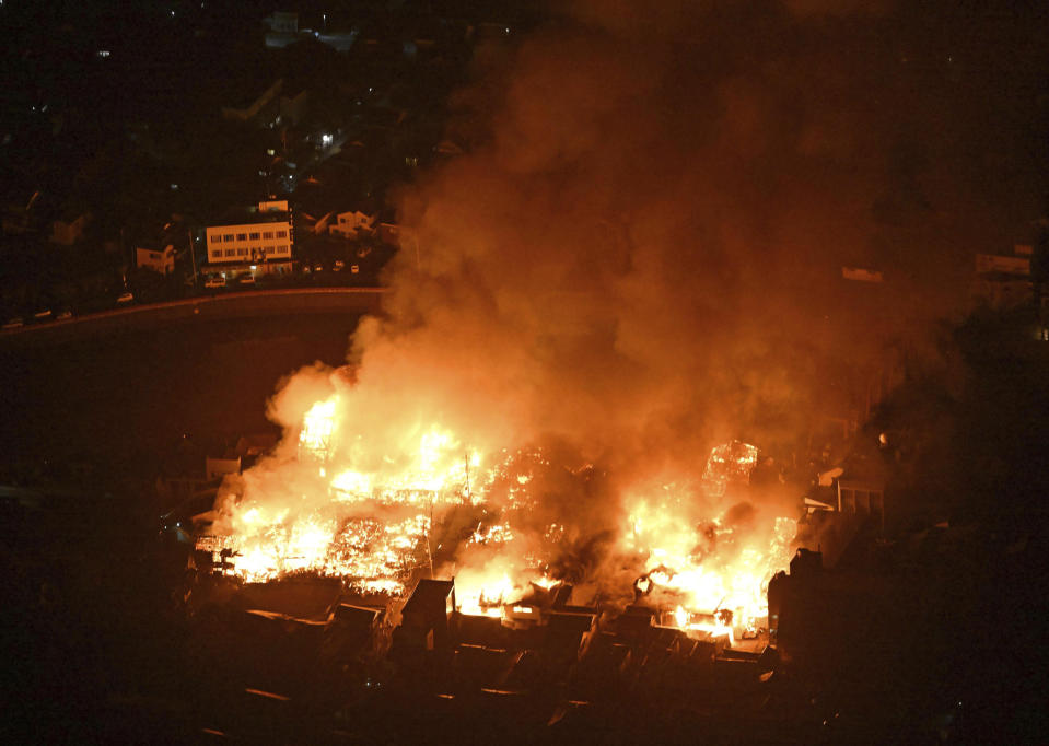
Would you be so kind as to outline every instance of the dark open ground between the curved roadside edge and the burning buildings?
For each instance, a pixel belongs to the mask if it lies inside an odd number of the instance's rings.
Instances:
[[[222,443],[273,426],[280,380],[339,365],[378,291],[217,294],[0,337],[0,465],[69,459],[149,474],[184,434]]]

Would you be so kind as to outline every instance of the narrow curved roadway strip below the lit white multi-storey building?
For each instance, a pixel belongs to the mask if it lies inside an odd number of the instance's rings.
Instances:
[[[63,320],[26,324],[0,331],[0,342],[51,342],[70,335],[143,329],[186,320],[264,317],[300,314],[361,314],[378,312],[385,288],[289,288],[219,292],[178,301],[129,305]]]

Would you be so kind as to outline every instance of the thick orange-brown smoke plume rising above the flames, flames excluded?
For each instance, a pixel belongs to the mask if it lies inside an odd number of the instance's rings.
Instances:
[[[965,231],[919,194],[942,174],[907,148],[936,117],[909,108],[882,10],[584,2],[480,50],[455,100],[468,154],[397,198],[411,244],[353,337],[356,382],[311,369],[275,419],[294,436],[338,389],[338,457],[365,471],[433,424],[550,448],[537,525],[567,524],[570,576],[605,561],[641,486],[695,483],[735,438],[789,451],[854,409],[889,346],[949,307]],[[691,493],[690,520],[741,526],[796,498]]]

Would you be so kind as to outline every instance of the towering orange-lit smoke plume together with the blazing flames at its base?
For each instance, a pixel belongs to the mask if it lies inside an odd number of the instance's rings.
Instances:
[[[786,452],[854,404],[942,311],[911,283],[948,243],[885,248],[883,49],[848,13],[791,5],[580,3],[480,50],[456,98],[468,154],[397,197],[412,243],[383,315],[349,373],[285,382],[285,436],[228,486],[218,529],[280,532],[258,567],[391,584],[443,551],[439,573],[501,588],[477,607],[560,579],[629,601],[642,575],[684,623],[713,597],[759,603],[797,496],[712,483],[711,448]],[[842,265],[889,258],[877,294],[842,287]]]

